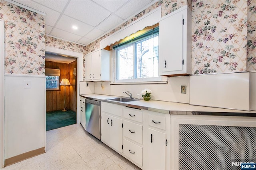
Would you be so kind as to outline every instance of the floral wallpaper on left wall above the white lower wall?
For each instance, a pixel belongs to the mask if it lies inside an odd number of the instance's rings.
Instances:
[[[44,75],[44,17],[0,1],[5,24],[6,74]]]

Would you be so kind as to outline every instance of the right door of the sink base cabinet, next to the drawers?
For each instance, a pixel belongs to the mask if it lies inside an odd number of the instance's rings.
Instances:
[[[122,152],[122,119],[110,116],[111,147]]]

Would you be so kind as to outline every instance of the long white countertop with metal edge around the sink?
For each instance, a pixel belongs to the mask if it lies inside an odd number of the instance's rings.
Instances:
[[[109,100],[105,100],[107,98],[120,97],[120,96],[108,96],[101,94],[81,94],[80,96],[98,99],[100,101],[109,102]],[[113,103],[113,101],[111,102]],[[232,112],[232,113],[256,113],[256,111],[242,111],[235,109],[221,109],[215,107],[204,107],[204,106],[194,106],[183,103],[176,102],[165,102],[158,100],[136,100],[132,102],[114,102],[116,104],[122,103],[122,105],[134,105],[140,107],[148,107],[148,110],[154,111],[154,109],[166,110],[166,111],[202,111],[202,112]]]

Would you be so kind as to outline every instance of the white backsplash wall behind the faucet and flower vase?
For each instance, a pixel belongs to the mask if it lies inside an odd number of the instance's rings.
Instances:
[[[181,93],[181,86],[187,86],[187,93]],[[152,90],[152,100],[167,102],[189,103],[189,76],[169,77],[168,84],[119,84],[110,85],[110,82],[95,82],[95,94],[125,96],[123,92],[129,91],[138,98],[141,90]]]

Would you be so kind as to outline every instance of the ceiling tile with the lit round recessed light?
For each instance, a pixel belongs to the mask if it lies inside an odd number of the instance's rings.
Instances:
[[[72,29],[73,25],[76,25],[78,29]],[[80,36],[86,35],[89,31],[93,29],[93,26],[75,20],[74,18],[70,18],[66,15],[61,16],[60,20],[58,21],[55,27]]]

